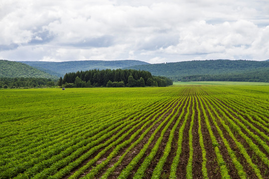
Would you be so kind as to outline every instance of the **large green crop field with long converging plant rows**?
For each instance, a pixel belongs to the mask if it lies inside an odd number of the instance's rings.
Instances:
[[[0,179],[268,176],[268,85],[0,90]]]

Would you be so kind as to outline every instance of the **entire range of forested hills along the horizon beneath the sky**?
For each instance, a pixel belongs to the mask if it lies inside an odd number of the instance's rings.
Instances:
[[[13,61],[6,61],[14,63]],[[105,69],[134,69],[150,72],[154,76],[164,76],[173,81],[257,81],[269,82],[269,61],[250,61],[250,60],[203,60],[203,61],[183,61],[162,64],[149,64],[138,60],[118,60],[118,61],[68,61],[68,62],[38,62],[24,61],[17,62],[34,68],[44,78],[63,77],[66,73],[86,71],[86,70],[105,70]],[[143,65],[135,65],[143,64]],[[16,64],[17,65],[17,64]],[[14,65],[13,73],[19,73],[20,77],[39,78],[40,75],[33,75],[33,69],[26,70],[26,66],[20,68]],[[134,66],[132,66],[134,65]],[[1,65],[2,66],[2,65]],[[3,68],[3,67],[0,67]],[[10,65],[9,65],[10,68]],[[5,72],[11,72],[7,70]],[[27,73],[29,73],[27,75]],[[50,74],[51,76],[47,77]],[[55,77],[57,76],[57,77]],[[7,74],[0,77],[14,77]],[[18,77],[18,76],[16,76]]]

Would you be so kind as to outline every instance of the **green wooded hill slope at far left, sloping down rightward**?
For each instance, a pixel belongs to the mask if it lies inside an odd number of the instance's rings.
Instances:
[[[29,65],[7,60],[0,60],[0,77],[57,79],[56,76],[40,71]]]

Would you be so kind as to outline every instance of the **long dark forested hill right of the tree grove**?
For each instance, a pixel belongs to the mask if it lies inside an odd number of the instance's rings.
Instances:
[[[269,61],[205,60],[128,67],[174,81],[269,82]],[[237,77],[237,78],[234,78]]]

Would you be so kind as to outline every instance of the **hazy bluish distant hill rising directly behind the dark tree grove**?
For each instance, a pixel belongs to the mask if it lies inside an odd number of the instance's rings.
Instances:
[[[68,62],[39,62],[39,61],[19,61],[51,75],[63,77],[66,73],[87,71],[93,69],[122,69],[137,65],[148,65],[149,63],[138,60],[117,60],[117,61],[68,61]]]

